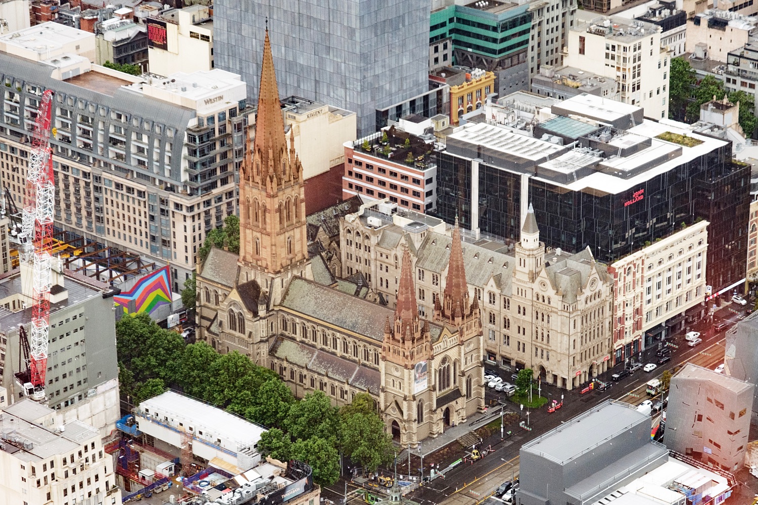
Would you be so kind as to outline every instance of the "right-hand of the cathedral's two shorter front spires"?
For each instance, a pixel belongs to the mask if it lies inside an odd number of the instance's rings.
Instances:
[[[465,340],[471,332],[481,335],[479,301],[477,298],[471,301],[468,295],[461,229],[457,217],[456,226],[453,228],[453,240],[450,242],[445,290],[441,298],[441,301],[440,297],[434,301],[435,321],[456,326],[459,329],[459,338],[462,340]]]

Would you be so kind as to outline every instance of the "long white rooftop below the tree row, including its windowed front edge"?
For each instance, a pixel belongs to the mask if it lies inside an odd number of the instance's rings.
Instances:
[[[251,450],[266,431],[262,426],[226,410],[174,391],[166,391],[143,401],[137,407],[136,415],[179,431],[186,430],[196,438],[215,443],[233,452]],[[139,420],[139,417],[137,419]],[[147,427],[142,422],[139,429],[144,432]]]

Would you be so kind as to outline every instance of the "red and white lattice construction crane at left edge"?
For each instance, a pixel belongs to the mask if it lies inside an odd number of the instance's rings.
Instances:
[[[52,284],[50,251],[55,201],[55,179],[50,149],[52,95],[53,92],[50,90],[42,93],[39,111],[34,121],[32,151],[27,170],[27,193],[23,198],[22,214],[22,233],[26,238],[22,259],[31,263],[33,271],[29,367],[32,397],[35,401],[45,400]]]

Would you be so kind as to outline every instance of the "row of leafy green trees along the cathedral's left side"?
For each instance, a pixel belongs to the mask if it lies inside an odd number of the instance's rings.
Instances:
[[[391,458],[392,442],[368,394],[342,410],[321,391],[298,401],[272,370],[236,351],[218,354],[205,341],[185,345],[146,313],[122,318],[116,338],[121,396],[130,404],[171,387],[227,409],[269,428],[258,442],[262,454],[309,463],[321,485],[339,478],[340,451],[368,471]]]

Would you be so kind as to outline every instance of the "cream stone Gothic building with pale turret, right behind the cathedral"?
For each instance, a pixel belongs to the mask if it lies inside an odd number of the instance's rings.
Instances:
[[[371,288],[396,304],[402,248],[413,257],[418,311],[434,311],[445,289],[451,238],[445,224],[410,211],[384,214],[365,204],[341,223],[343,275],[364,273]],[[589,249],[546,251],[534,211],[515,247],[480,240],[463,247],[471,298],[481,307],[485,363],[531,368],[562,388],[608,369],[612,279]]]

